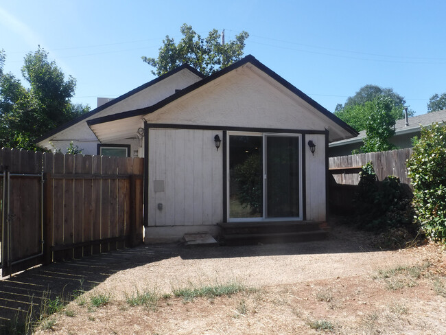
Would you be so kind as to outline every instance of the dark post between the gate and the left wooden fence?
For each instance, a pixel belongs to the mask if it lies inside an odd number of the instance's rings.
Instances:
[[[43,194],[43,201],[45,202],[43,211],[43,224],[44,224],[44,244],[43,244],[43,262],[44,264],[50,264],[53,261],[51,253],[51,244],[53,242],[53,178],[51,173],[46,172],[44,175],[45,188]]]

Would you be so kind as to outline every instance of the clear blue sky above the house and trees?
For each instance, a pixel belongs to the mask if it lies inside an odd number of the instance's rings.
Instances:
[[[180,26],[202,36],[245,30],[245,54],[334,111],[365,84],[390,87],[415,113],[446,92],[446,1],[0,0],[5,70],[21,78],[23,57],[49,51],[77,80],[73,102],[96,106],[154,79],[156,57]]]

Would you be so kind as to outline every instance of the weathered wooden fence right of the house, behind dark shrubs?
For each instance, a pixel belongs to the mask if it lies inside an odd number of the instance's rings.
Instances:
[[[410,178],[406,161],[412,154],[412,148],[353,154],[329,158],[329,207],[331,213],[348,213],[353,209],[353,198],[360,181],[359,172],[362,165],[369,161],[377,174],[377,180],[386,176],[398,176],[403,189],[410,192]]]

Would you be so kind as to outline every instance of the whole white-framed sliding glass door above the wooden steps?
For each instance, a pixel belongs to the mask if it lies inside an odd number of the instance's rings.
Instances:
[[[300,135],[228,134],[228,219],[300,220]]]

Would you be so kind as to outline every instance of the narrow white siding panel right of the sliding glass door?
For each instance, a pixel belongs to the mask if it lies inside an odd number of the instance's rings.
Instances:
[[[326,167],[325,167],[325,135],[306,135],[305,141],[312,140],[316,144],[314,156],[305,143],[306,174],[306,212],[307,220],[326,220]]]

